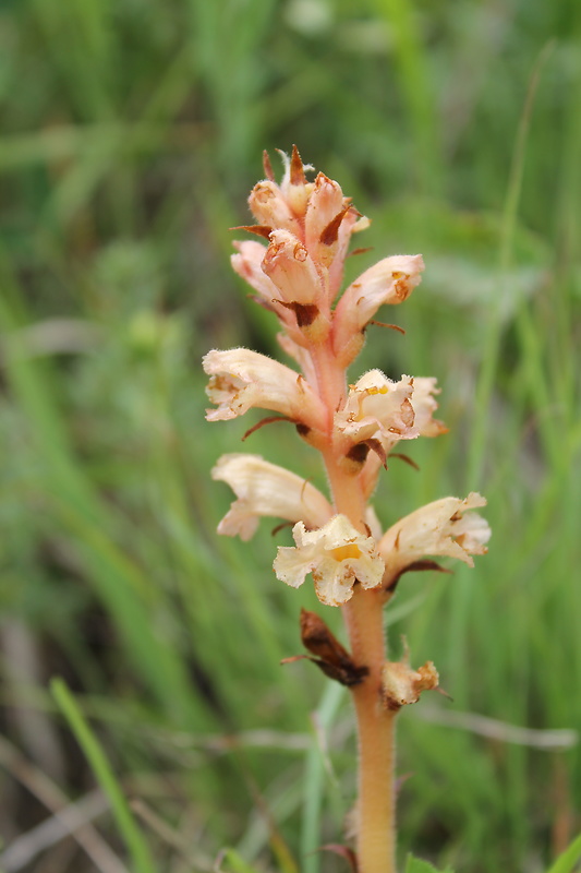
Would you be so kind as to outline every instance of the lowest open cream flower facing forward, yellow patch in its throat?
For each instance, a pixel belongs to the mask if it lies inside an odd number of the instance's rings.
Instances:
[[[366,537],[344,515],[335,515],[318,530],[302,522],[292,529],[296,547],[279,547],[274,567],[277,577],[298,588],[313,575],[318,599],[327,606],[347,603],[359,582],[363,588],[382,584],[384,562],[373,537]]]

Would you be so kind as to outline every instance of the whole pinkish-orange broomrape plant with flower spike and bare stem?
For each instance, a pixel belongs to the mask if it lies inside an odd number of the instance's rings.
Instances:
[[[402,375],[394,382],[371,370],[348,385],[346,370],[379,307],[407,300],[424,262],[420,254],[385,258],[339,297],[351,236],[368,220],[324,174],[307,180],[313,168],[303,165],[296,147],[282,158],[285,175],[277,184],[265,153],[266,179],[249,199],[256,224],[238,228],[266,242],[235,242],[232,266],[252,286],[256,302],[278,318],[280,346],[299,370],[245,348],[209,351],[204,369],[216,408],[207,418],[227,420],[258,407],[293,422],[320,452],[330,493],[325,497],[258,455],[225,455],[213,477],[227,482],[237,500],[218,531],[247,540],[263,515],[291,522],[295,545],[279,547],[276,576],[298,588],[311,575],[320,602],[342,610],[350,651],[313,612],[302,611],[301,634],[312,660],[353,698],[356,869],[394,873],[395,722],[402,706],[438,687],[438,673],[432,661],[413,669],[407,650],[400,661],[386,659],[383,612],[400,576],[437,569],[434,557],[473,566],[472,555],[486,552],[491,536],[474,512],[486,501],[476,493],[444,498],[383,530],[370,499],[390,453],[401,441],[446,432],[434,418],[436,380]]]

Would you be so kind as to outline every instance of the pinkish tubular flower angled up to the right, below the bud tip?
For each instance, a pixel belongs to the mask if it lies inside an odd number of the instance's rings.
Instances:
[[[337,354],[361,333],[384,303],[402,303],[422,280],[421,254],[396,254],[374,264],[353,282],[337,304],[334,347]]]

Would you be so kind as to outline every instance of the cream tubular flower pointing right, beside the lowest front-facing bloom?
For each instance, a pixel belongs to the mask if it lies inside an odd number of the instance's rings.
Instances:
[[[481,494],[471,492],[465,500],[436,500],[401,518],[378,542],[386,565],[384,582],[425,555],[449,555],[474,566],[471,555],[486,553],[491,528],[481,515],[464,513],[485,505]]]

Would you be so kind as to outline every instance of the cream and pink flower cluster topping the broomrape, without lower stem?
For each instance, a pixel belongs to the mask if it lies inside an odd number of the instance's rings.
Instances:
[[[342,294],[337,306],[351,236],[368,225],[339,184],[319,172],[306,180],[299,153],[280,186],[270,165],[250,196],[257,224],[244,228],[267,239],[237,242],[232,265],[257,294],[257,302],[279,319],[279,342],[298,372],[245,348],[209,351],[204,369],[216,409],[210,421],[241,416],[252,407],[293,421],[303,439],[319,449],[352,480],[358,503],[368,500],[389,453],[402,440],[435,436],[446,428],[433,418],[436,380],[403,375],[392,382],[379,370],[349,390],[344,371],[363,346],[365,328],[380,306],[403,302],[420,284],[422,256],[385,258]],[[486,522],[469,512],[483,506],[479,494],[446,498],[402,518],[382,534],[371,507],[350,518],[294,473],[257,455],[226,455],[214,477],[237,495],[219,533],[249,539],[258,516],[293,522],[295,548],[280,548],[277,576],[293,587],[311,573],[322,602],[346,603],[356,585],[389,590],[423,555],[451,555],[472,564],[485,551]],[[468,513],[468,514],[465,514]]]

